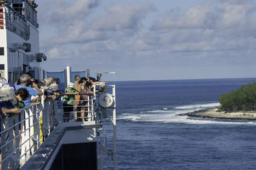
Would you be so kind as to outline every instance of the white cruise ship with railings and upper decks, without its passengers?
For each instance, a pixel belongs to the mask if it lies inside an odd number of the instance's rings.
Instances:
[[[0,1],[0,76],[8,82],[27,72],[36,80],[47,77],[40,66],[47,56],[39,48],[37,7],[33,0]],[[72,71],[67,66],[61,73],[67,87]],[[92,86],[84,122],[63,122],[62,101],[44,95],[2,118],[0,169],[116,169],[115,85]]]

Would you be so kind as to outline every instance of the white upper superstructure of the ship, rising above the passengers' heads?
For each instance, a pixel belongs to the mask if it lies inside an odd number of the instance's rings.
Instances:
[[[26,72],[36,79],[45,76],[40,62],[47,57],[39,48],[36,6],[28,0],[0,1],[0,76],[9,82]]]

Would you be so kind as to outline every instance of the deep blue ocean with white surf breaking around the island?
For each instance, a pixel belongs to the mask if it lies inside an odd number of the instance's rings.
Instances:
[[[118,169],[255,169],[256,122],[179,115],[253,81],[116,81]]]

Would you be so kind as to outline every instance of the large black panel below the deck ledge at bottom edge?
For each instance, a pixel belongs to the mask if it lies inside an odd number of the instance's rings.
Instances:
[[[97,169],[97,143],[62,145],[51,165],[51,170]]]

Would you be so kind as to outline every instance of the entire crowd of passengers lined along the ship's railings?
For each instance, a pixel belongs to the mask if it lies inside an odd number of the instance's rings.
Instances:
[[[74,113],[74,122],[86,121],[88,120],[88,100],[93,95],[93,83],[97,83],[95,78],[80,78],[76,75],[74,83],[68,83],[67,89],[61,92],[61,90],[58,90],[60,79],[51,76],[44,80],[35,80],[31,73],[26,73],[22,74],[14,84],[8,83],[6,79],[0,77],[0,120],[6,117],[9,117],[9,121],[12,120],[10,118],[14,120],[13,114],[19,114],[21,108],[29,106],[31,103],[38,103],[41,99],[61,99],[63,122],[69,122],[72,113]],[[5,87],[9,90],[12,89],[10,94],[6,94],[9,96],[6,99],[3,98],[5,96],[1,93],[1,90],[3,92]],[[97,92],[97,90],[95,91]]]

